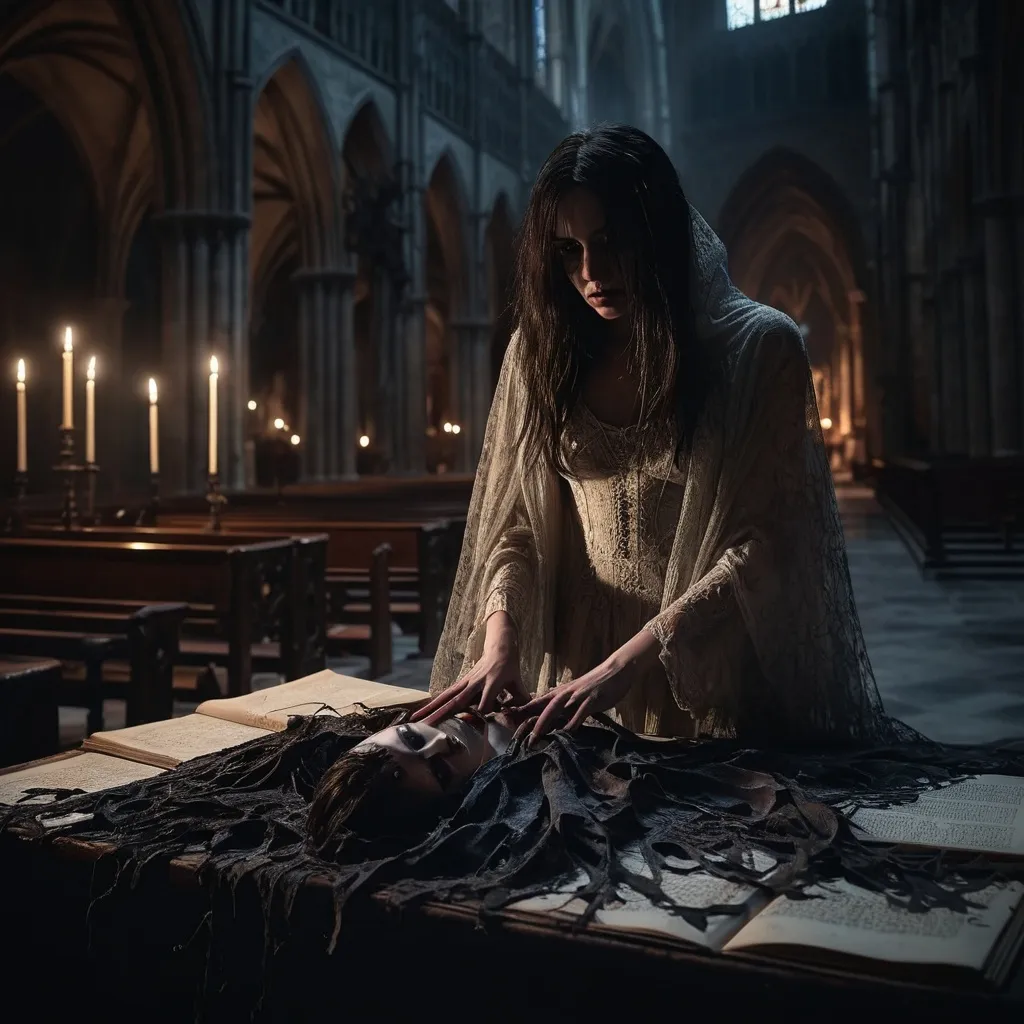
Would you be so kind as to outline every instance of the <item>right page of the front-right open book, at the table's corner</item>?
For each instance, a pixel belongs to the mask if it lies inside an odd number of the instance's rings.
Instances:
[[[1019,882],[971,893],[978,909],[942,907],[920,913],[890,906],[885,896],[829,883],[808,890],[820,899],[772,900],[725,951],[759,946],[808,946],[897,964],[949,965],[981,972],[1024,892]]]

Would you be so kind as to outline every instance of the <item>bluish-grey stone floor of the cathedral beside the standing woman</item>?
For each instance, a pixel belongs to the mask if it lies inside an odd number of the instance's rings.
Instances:
[[[867,649],[889,712],[933,739],[983,742],[1024,735],[1024,583],[922,579],[869,490],[840,488],[850,572]],[[430,663],[410,656],[416,642],[395,644],[388,682],[427,688]],[[331,668],[364,675],[366,659]],[[275,677],[259,677],[266,686]],[[176,714],[193,706],[179,705]],[[124,724],[120,701],[108,701],[106,728]],[[61,743],[84,735],[85,712],[61,709]]]

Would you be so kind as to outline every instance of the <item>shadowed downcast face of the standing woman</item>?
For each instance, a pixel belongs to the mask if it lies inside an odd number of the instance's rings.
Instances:
[[[589,188],[573,188],[558,204],[555,250],[591,309],[608,321],[625,315],[626,290],[608,242],[604,207]]]

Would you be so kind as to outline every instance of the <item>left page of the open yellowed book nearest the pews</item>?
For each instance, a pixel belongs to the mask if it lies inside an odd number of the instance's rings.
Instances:
[[[240,746],[267,734],[267,729],[251,725],[206,715],[185,715],[112,732],[94,732],[82,743],[82,750],[100,751],[160,768],[176,768],[182,761]]]

